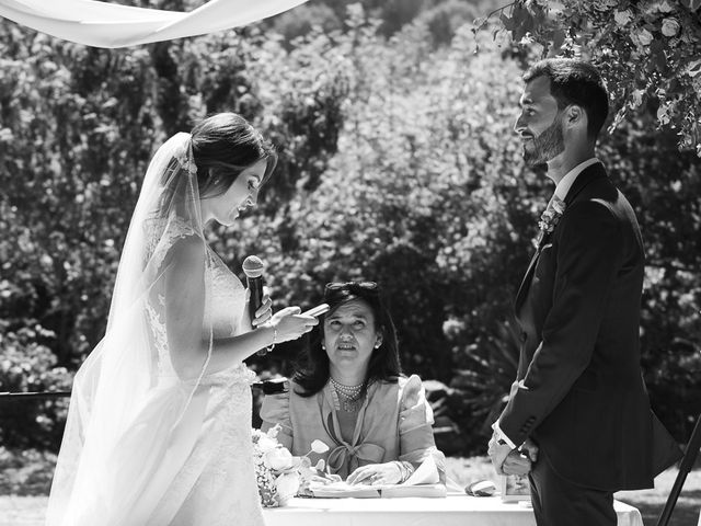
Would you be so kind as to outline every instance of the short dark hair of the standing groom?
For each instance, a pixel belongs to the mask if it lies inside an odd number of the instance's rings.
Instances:
[[[558,108],[582,106],[587,114],[587,135],[596,139],[609,114],[609,94],[601,73],[591,64],[574,58],[547,58],[524,73],[524,81],[538,77],[550,79],[550,93]]]

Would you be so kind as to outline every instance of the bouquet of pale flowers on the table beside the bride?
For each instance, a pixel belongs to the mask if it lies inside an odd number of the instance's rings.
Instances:
[[[321,441],[311,444],[311,451],[303,457],[294,457],[289,450],[277,442],[280,426],[263,433],[253,430],[253,462],[258,495],[263,507],[284,506],[317,473],[311,467],[309,453],[318,454],[329,450]]]

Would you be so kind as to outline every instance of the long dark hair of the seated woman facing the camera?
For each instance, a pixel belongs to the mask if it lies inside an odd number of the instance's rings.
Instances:
[[[379,285],[375,282],[330,283],[324,291],[324,301],[331,309],[320,317],[319,325],[310,333],[300,361],[301,367],[292,378],[302,388],[302,392],[298,395],[311,397],[329,381],[329,355],[321,346],[324,320],[338,307],[355,299],[363,300],[370,307],[375,317],[375,330],[382,334],[381,345],[374,348],[370,355],[363,392],[371,381],[397,382],[401,375],[397,329],[384,305]]]

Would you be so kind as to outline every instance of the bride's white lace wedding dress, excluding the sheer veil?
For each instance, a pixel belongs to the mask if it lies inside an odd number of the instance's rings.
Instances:
[[[194,235],[182,224],[172,227],[173,240]],[[214,328],[215,339],[232,336],[245,307],[245,289],[209,248],[207,255],[210,265],[207,265],[209,283],[206,289],[211,298],[207,301],[205,325]],[[165,385],[174,382],[172,389],[179,389],[177,377],[168,355],[165,327],[160,321],[164,318],[161,311],[163,305],[163,301],[157,301],[148,309],[159,352],[159,377]],[[189,445],[189,441],[194,439],[194,444],[192,453],[174,477],[171,477],[172,466],[162,467],[169,471],[163,477],[165,487],[154,490],[164,491],[164,495],[148,525],[263,525],[251,442],[251,382],[254,378],[253,371],[245,364],[240,364],[200,379],[187,414],[183,415],[183,421],[200,421],[199,433],[194,436],[192,428],[183,432],[189,435],[183,436],[183,442]],[[161,400],[159,397],[159,401],[154,400],[153,407],[146,408],[146,411],[163,411],[165,408],[159,408],[159,403],[169,402]],[[188,425],[192,427],[192,424]],[[173,453],[183,456],[186,451],[181,454],[175,449]]]

